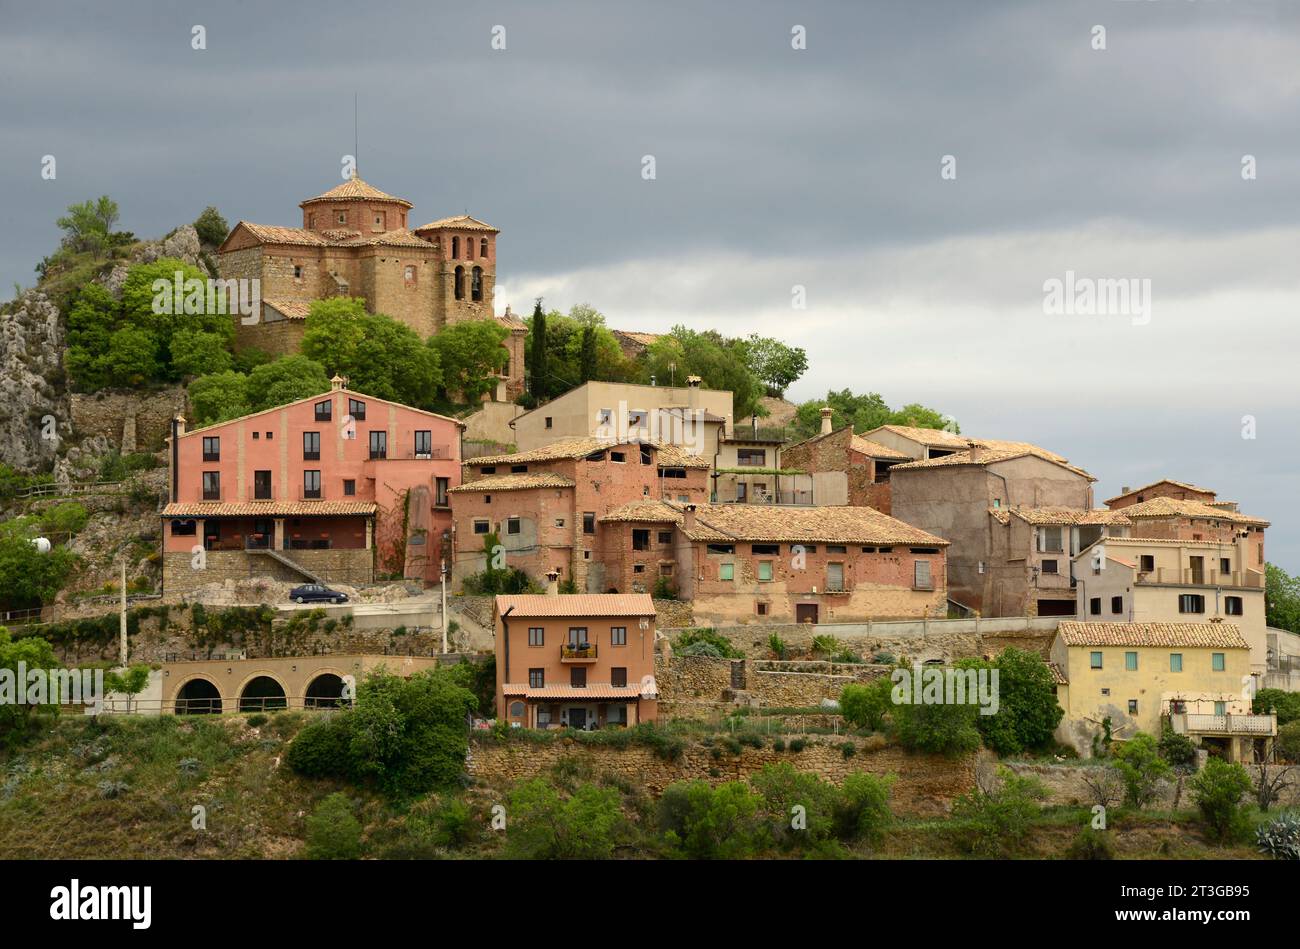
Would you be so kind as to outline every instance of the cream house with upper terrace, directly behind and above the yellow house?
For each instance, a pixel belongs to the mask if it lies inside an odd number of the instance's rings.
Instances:
[[[1222,619],[1251,647],[1249,671],[1268,667],[1264,573],[1235,543],[1108,537],[1074,558],[1079,618],[1089,623],[1205,623]]]

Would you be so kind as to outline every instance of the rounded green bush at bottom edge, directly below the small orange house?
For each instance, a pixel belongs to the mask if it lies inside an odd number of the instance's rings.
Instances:
[[[612,788],[580,784],[567,798],[537,777],[510,794],[506,853],[529,861],[608,859],[627,835]]]

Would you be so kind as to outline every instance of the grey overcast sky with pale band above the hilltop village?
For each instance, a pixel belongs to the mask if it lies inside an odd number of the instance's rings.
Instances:
[[[498,309],[777,335],[792,398],[923,402],[1098,502],[1209,485],[1300,571],[1300,3],[0,0],[0,280],[100,194],[140,237],[300,224],[354,94],[361,177],[502,229]],[[1045,312],[1066,272],[1149,313]]]

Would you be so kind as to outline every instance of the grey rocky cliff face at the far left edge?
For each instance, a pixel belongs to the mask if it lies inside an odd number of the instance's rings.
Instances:
[[[0,316],[0,462],[26,473],[48,471],[70,434],[62,378],[58,308],[29,290]]]

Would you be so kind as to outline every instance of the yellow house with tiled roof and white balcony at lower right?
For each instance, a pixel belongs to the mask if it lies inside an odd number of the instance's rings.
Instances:
[[[1277,716],[1251,714],[1249,656],[1242,630],[1222,620],[1062,621],[1052,644],[1065,710],[1057,738],[1088,755],[1105,719],[1124,741],[1160,736],[1167,715],[1174,731],[1212,754],[1253,760],[1277,734]]]

